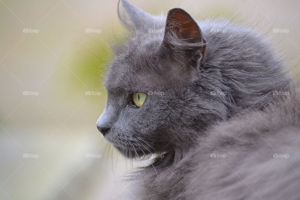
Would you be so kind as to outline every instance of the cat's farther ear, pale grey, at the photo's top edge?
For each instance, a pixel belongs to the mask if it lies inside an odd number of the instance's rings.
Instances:
[[[125,9],[126,13],[122,13],[120,3],[122,4],[122,7]],[[147,32],[149,28],[155,28],[155,22],[157,21],[156,17],[144,12],[126,0],[119,0],[118,15],[125,27],[132,29],[135,32]]]

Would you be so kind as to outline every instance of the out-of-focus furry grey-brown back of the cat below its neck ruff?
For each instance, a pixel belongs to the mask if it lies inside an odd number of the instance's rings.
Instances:
[[[194,163],[187,175],[189,197],[299,199],[300,96],[285,94],[264,112],[238,115],[201,139],[186,160]]]

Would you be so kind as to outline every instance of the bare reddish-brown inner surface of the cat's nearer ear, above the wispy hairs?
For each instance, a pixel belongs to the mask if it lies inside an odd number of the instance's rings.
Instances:
[[[168,12],[166,32],[167,29],[173,29],[182,39],[202,41],[201,30],[197,22],[181,8],[173,8]]]

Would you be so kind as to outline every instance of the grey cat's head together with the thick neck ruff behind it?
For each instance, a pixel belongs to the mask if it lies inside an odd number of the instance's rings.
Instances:
[[[288,82],[256,32],[197,23],[180,8],[154,17],[121,2],[120,19],[133,34],[113,48],[97,127],[127,156],[180,155],[209,125],[235,110],[262,108]]]

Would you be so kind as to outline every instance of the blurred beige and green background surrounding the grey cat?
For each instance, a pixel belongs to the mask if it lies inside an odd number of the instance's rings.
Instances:
[[[152,14],[181,7],[197,20],[243,22],[276,42],[299,71],[299,1],[130,2]],[[0,0],[1,200],[113,199],[113,188],[122,192],[131,163],[96,128],[109,44],[125,32],[117,4]]]

